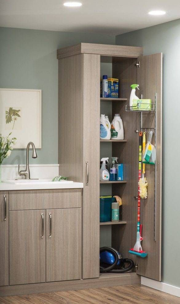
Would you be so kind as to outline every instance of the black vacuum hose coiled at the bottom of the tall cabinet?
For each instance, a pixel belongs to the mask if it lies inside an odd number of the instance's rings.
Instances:
[[[101,247],[100,248],[100,253],[102,251],[108,251],[108,252],[111,252],[114,257],[115,257],[115,261],[112,265],[108,266],[108,267],[103,267],[102,265],[100,265],[100,272],[112,272],[112,273],[124,273],[124,272],[127,272],[129,270],[132,269],[132,267],[134,266],[134,262],[131,260],[131,259],[121,259],[120,260],[120,263],[123,264],[123,263],[128,263],[129,266],[126,267],[126,268],[118,268],[118,269],[114,269],[119,261],[119,256],[117,254],[117,252],[111,248],[111,247]]]

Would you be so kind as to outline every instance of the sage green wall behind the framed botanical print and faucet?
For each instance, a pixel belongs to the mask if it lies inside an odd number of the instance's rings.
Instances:
[[[56,50],[80,42],[115,44],[115,37],[31,29],[0,28],[0,88],[42,90],[42,149],[33,164],[57,164],[58,61]],[[3,164],[24,164],[14,150]]]

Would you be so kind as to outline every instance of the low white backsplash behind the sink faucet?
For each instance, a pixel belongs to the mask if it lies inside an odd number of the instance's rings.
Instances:
[[[24,170],[25,165],[20,165],[20,170]],[[52,179],[59,175],[58,164],[29,165],[31,178]],[[20,178],[18,175],[18,165],[2,165],[2,181]]]

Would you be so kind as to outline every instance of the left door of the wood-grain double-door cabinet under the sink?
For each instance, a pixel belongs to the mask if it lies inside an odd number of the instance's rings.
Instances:
[[[10,285],[46,281],[45,215],[46,210],[10,211]]]

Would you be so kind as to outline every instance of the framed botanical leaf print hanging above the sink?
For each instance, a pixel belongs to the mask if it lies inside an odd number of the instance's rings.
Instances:
[[[0,88],[0,133],[17,138],[14,149],[32,141],[41,148],[41,90]]]

